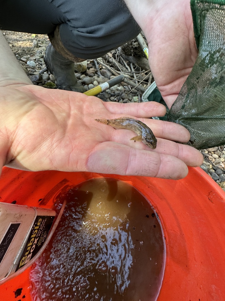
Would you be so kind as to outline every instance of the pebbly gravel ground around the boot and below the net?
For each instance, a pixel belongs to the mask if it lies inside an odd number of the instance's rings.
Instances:
[[[4,35],[32,82],[35,85],[41,85],[46,88],[57,88],[54,75],[47,70],[43,70],[45,68],[45,49],[49,43],[48,37],[46,35],[9,31],[5,31]],[[113,73],[105,68],[99,70],[94,60],[86,61],[84,65],[84,70],[80,69],[81,66],[79,64],[75,68],[77,71],[76,76],[86,91],[114,76]],[[154,79],[150,78],[149,80],[153,81]],[[147,88],[148,83],[144,82],[142,86]],[[141,95],[140,91],[129,85],[118,84],[96,96],[103,101],[140,102]],[[201,150],[201,153],[204,156],[201,168],[225,191],[225,146]]]

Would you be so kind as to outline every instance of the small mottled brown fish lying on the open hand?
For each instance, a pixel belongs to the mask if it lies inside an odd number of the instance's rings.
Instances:
[[[146,126],[140,120],[136,120],[129,117],[121,117],[116,119],[95,119],[98,122],[103,124],[108,124],[113,126],[114,129],[128,129],[137,136],[131,138],[134,141],[142,141],[145,145],[149,146],[152,149],[156,148],[157,139],[155,138],[152,130]]]

